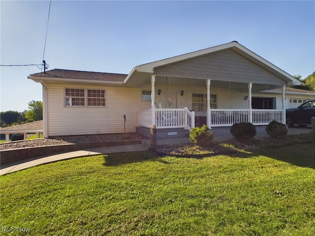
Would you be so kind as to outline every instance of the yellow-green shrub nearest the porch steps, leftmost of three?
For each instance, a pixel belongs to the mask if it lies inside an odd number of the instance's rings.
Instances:
[[[213,140],[213,133],[210,132],[209,127],[204,124],[201,128],[192,128],[190,130],[189,139],[192,143],[205,147],[211,144]]]

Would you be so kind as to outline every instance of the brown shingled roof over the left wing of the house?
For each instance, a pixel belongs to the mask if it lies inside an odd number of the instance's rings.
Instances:
[[[32,74],[31,76],[124,82],[127,75],[126,74],[91,72],[91,71],[53,69],[53,70],[46,71],[46,73],[44,73],[44,72],[35,73],[35,74]]]

